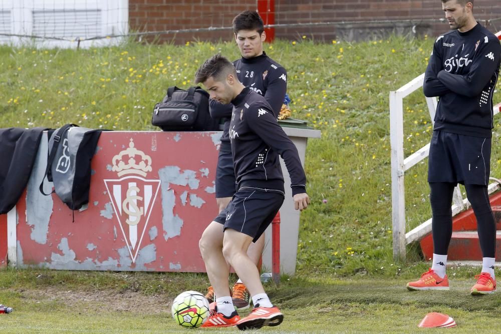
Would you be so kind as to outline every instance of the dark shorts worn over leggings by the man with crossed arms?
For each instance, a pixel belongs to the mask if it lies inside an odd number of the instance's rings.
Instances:
[[[433,131],[428,182],[487,185],[491,138]]]

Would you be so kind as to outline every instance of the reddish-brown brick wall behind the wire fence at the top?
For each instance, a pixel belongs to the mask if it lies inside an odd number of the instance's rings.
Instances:
[[[493,20],[489,26],[491,31],[501,30],[501,20],[494,20],[501,18],[499,2],[474,0],[475,18],[482,24],[485,24],[483,20]],[[140,32],[230,27],[236,14],[256,8],[256,0],[129,0],[129,22],[131,30]],[[440,0],[275,0],[275,12],[276,24],[346,22],[325,27],[276,28],[276,37],[282,39],[298,39],[306,35],[318,41],[359,40],[414,32],[435,36],[448,30],[445,22],[429,21],[443,18]],[[368,24],[364,21],[393,22]],[[224,30],[177,33],[157,38],[159,41],[185,43],[229,40],[231,35],[230,30]]]

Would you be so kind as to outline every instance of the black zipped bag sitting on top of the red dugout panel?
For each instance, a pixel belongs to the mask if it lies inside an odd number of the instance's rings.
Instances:
[[[219,121],[210,117],[209,94],[200,87],[169,87],[151,118],[163,131],[219,131]]]

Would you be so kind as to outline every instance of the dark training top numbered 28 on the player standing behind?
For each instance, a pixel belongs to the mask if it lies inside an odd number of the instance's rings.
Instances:
[[[266,55],[254,58],[241,58],[233,62],[238,80],[243,86],[263,95],[272,106],[273,113],[278,117],[287,91],[287,72],[277,62]],[[210,100],[210,116],[225,118],[224,131],[221,137],[221,151],[229,152],[231,149],[228,137],[229,120],[231,118],[231,104],[223,105],[215,100]]]

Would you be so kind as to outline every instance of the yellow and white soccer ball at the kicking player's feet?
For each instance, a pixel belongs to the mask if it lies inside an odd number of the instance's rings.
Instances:
[[[197,291],[184,291],[172,302],[172,317],[187,328],[199,327],[209,316],[209,302]]]

